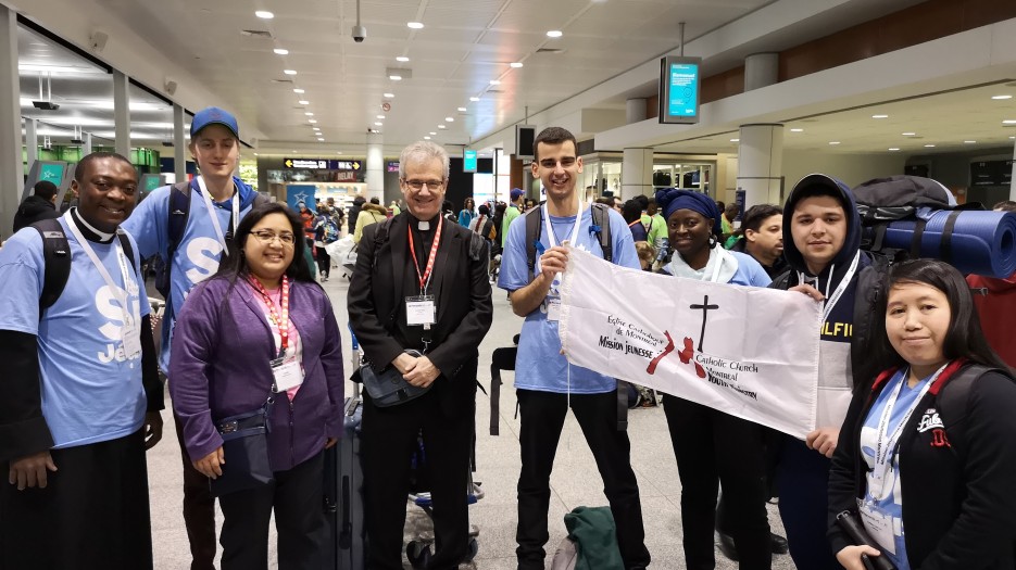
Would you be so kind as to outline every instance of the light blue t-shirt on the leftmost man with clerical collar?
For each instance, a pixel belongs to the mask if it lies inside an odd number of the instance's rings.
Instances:
[[[148,315],[137,245],[134,265],[127,263],[128,281],[120,264],[120,239],[89,242],[118,291],[114,294],[81,250],[70,213],[60,224],[71,244],[71,276],[60,299],[39,319],[45,262],[42,238],[35,228],[15,233],[0,250],[0,329],[35,334],[39,340],[42,416],[54,447],[75,447],[115,440],[141,428],[146,395],[141,384],[141,355],[124,354],[121,302],[127,292],[130,318],[140,334],[141,317]],[[126,262],[126,259],[124,259]]]

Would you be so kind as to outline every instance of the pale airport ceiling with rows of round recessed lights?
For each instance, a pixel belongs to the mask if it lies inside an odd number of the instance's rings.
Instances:
[[[299,150],[301,155],[325,156],[362,154],[367,129],[380,131],[387,145],[424,137],[469,144],[524,122],[527,112],[543,111],[674,50],[679,22],[687,22],[686,38],[691,40],[768,3],[361,0],[360,22],[366,28],[362,43],[351,37],[358,22],[353,0],[104,0],[102,5],[230,101],[237,113],[256,117],[265,136],[258,141],[262,153]],[[888,12],[913,3],[887,0],[880,9]],[[255,9],[272,10],[274,17],[260,18]],[[839,24],[846,27],[864,16],[853,14],[853,20],[844,17]],[[411,28],[410,22],[423,27]],[[550,30],[563,35],[551,38]],[[108,71],[25,27],[18,28],[17,39],[22,115],[39,119],[39,135],[66,142],[76,138],[74,128],[79,127],[99,141],[111,141],[113,88]],[[775,41],[786,48],[807,39],[798,33]],[[712,62],[713,72],[735,64]],[[393,80],[392,69],[409,73]],[[51,84],[52,101],[60,110],[33,105],[40,99],[40,83],[41,99],[48,99]],[[1011,127],[1016,125],[1003,122],[1016,121],[1016,98],[992,99],[1005,94],[1016,96],[1016,86],[1002,83],[821,116],[789,116],[785,148],[926,154],[1011,145],[1016,136]],[[384,110],[385,103],[390,110]],[[623,110],[624,96],[595,106]],[[133,145],[159,148],[172,138],[171,106],[136,85],[130,86],[130,119]],[[737,143],[730,141],[736,138],[733,129],[657,150],[736,153]]]

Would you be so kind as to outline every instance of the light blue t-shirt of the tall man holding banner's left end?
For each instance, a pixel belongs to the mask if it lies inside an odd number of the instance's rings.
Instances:
[[[611,241],[613,242],[613,261],[617,265],[639,269],[639,256],[635,251],[631,231],[617,212],[610,213]],[[539,212],[531,215],[539,216]],[[575,216],[550,216],[551,227],[561,243],[569,239],[575,228]],[[595,232],[590,231],[592,214],[589,207],[582,208],[582,219],[579,227],[577,243],[573,245],[602,256],[600,240]],[[550,248],[550,240],[543,224],[540,225],[540,243],[544,249]],[[537,264],[534,275],[538,274],[540,252],[537,252]],[[561,284],[560,276],[551,286],[551,295],[557,294]],[[501,254],[501,274],[498,287],[509,292],[522,289],[529,284],[529,265],[526,257],[526,216],[518,216],[509,228],[504,252]],[[523,390],[537,390],[541,392],[556,392],[574,394],[601,394],[612,392],[617,381],[609,376],[582,368],[570,366],[561,354],[561,338],[557,335],[557,321],[547,320],[547,300],[526,315],[523,322],[522,337],[518,341],[518,356],[515,360],[515,388]],[[569,381],[570,376],[570,381]]]

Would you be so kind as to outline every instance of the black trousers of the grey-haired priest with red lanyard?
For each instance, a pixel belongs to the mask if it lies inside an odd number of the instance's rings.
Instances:
[[[475,366],[475,365],[474,365]],[[473,382],[475,373],[454,382]],[[459,390],[460,387],[444,387]],[[379,408],[364,397],[361,460],[367,570],[402,570],[402,531],[413,453],[423,435],[434,508],[435,556],[430,570],[455,570],[469,549],[468,480],[472,468],[476,404],[455,410],[441,405],[440,392],[404,404]]]

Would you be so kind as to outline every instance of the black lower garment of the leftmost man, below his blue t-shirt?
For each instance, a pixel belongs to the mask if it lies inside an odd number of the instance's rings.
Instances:
[[[0,569],[152,568],[145,436],[51,449],[46,489],[0,481]]]

